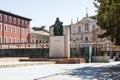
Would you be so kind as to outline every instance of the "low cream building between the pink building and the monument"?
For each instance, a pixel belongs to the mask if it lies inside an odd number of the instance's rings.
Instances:
[[[30,42],[31,43],[36,43],[33,45],[36,47],[49,47],[49,32],[46,30],[41,30],[41,31],[30,31]]]

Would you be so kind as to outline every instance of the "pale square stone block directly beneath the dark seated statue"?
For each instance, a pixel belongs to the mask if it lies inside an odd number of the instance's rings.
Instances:
[[[50,47],[49,57],[65,57],[64,36],[51,36],[49,47]]]

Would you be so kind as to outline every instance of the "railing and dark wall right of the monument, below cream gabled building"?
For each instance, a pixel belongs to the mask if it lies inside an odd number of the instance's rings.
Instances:
[[[89,46],[92,47],[92,54],[91,54],[91,56],[93,57],[92,59],[96,61],[104,60],[105,62],[108,62],[109,58],[113,59],[114,57],[120,56],[120,46],[115,46],[112,43],[77,43],[76,42],[74,43],[74,46],[72,46],[70,49],[71,57],[85,58],[88,60],[89,50],[87,49],[87,47]],[[99,59],[97,59],[96,57]]]

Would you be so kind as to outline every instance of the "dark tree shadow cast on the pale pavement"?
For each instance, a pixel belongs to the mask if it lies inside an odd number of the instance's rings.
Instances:
[[[77,68],[64,75],[80,77],[82,80],[120,80],[120,64],[107,67]]]

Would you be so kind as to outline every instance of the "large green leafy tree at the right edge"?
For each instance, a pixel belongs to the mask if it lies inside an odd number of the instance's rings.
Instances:
[[[115,45],[120,45],[120,0],[95,0],[94,5],[98,12],[97,24],[105,30],[98,37],[110,37]]]

